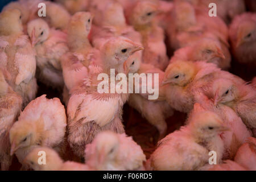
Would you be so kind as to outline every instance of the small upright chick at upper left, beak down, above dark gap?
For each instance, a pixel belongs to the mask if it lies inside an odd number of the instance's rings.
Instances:
[[[27,24],[28,36],[36,50],[38,79],[53,88],[63,89],[60,57],[68,51],[67,35],[49,28],[43,19],[34,19]]]

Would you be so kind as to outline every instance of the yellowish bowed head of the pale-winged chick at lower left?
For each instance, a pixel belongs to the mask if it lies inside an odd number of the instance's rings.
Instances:
[[[15,122],[10,129],[11,155],[22,147],[31,146],[36,143],[36,132],[31,122]]]

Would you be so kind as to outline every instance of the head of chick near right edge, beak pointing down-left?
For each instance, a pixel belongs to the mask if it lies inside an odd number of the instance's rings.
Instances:
[[[238,89],[234,82],[220,78],[213,83],[214,105],[218,103],[228,104],[238,97]]]

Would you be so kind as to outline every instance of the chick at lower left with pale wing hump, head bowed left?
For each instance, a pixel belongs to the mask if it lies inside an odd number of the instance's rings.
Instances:
[[[36,145],[62,150],[67,118],[59,98],[48,100],[42,95],[31,101],[10,129],[11,155],[24,158]],[[22,162],[22,159],[19,159]]]

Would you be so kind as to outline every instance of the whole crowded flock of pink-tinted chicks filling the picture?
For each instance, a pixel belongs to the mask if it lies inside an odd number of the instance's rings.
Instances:
[[[15,155],[22,170],[256,170],[256,79],[229,72],[234,61],[255,76],[256,2],[246,2],[250,11],[243,0],[10,2],[0,14],[1,169]],[[158,73],[158,99],[97,92],[110,69]],[[36,98],[39,81],[62,95]],[[149,159],[125,134],[125,103],[159,131]],[[167,133],[175,110],[187,120]]]

